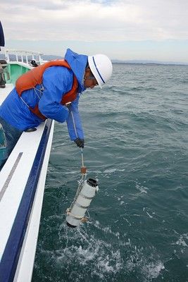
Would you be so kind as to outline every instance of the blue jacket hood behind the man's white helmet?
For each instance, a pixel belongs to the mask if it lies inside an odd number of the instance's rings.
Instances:
[[[65,54],[65,60],[70,65],[73,73],[75,74],[78,82],[78,91],[82,92],[85,90],[83,80],[84,72],[87,66],[88,56],[77,54],[74,51],[67,49]]]

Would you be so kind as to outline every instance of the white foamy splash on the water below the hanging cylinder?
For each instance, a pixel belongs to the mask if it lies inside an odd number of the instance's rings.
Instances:
[[[59,236],[65,247],[56,252],[56,263],[63,266],[63,271],[71,270],[74,279],[75,269],[80,268],[85,269],[92,278],[98,277],[102,281],[109,278],[113,281],[113,277],[123,273],[125,277],[134,273],[141,281],[149,282],[164,269],[153,247],[149,250],[137,247],[126,234],[114,232],[109,226],[101,226],[99,221],[89,222],[87,227],[81,225],[74,230],[62,225]]]

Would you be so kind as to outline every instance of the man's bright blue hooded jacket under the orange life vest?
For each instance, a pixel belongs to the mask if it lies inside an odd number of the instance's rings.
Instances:
[[[62,66],[46,68],[42,80],[43,93],[39,92],[41,85],[37,85],[37,90],[24,91],[22,94],[23,99],[20,99],[15,88],[13,88],[0,106],[0,116],[19,130],[37,127],[42,123],[42,120],[35,114],[32,114],[27,105],[34,107],[39,103],[39,111],[44,116],[60,123],[67,122],[70,140],[75,140],[77,137],[83,139],[84,133],[78,111],[80,94],[72,102],[69,109],[60,104],[60,102],[63,94],[72,88],[73,74],[77,77],[78,92],[81,93],[85,90],[83,78],[87,66],[87,56],[76,54],[68,49],[65,54],[65,60],[68,61],[71,70]]]

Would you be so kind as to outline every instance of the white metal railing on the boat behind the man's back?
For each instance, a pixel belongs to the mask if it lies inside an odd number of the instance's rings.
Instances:
[[[41,65],[44,63],[42,60],[41,56],[43,55],[40,52],[35,52],[35,51],[26,51],[26,50],[15,50],[15,49],[6,49],[5,50],[5,56],[6,56],[6,61],[10,62],[10,55],[15,56],[15,61],[22,61],[23,63],[28,63],[28,56],[32,58],[32,60],[35,60],[36,63],[39,63]]]

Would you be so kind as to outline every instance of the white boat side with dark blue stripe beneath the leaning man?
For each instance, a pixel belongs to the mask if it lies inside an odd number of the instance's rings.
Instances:
[[[21,66],[23,63],[17,64]],[[9,84],[0,89],[0,104],[12,88]],[[53,133],[54,121],[50,119],[36,131],[23,132],[0,171],[2,282],[32,280]]]

